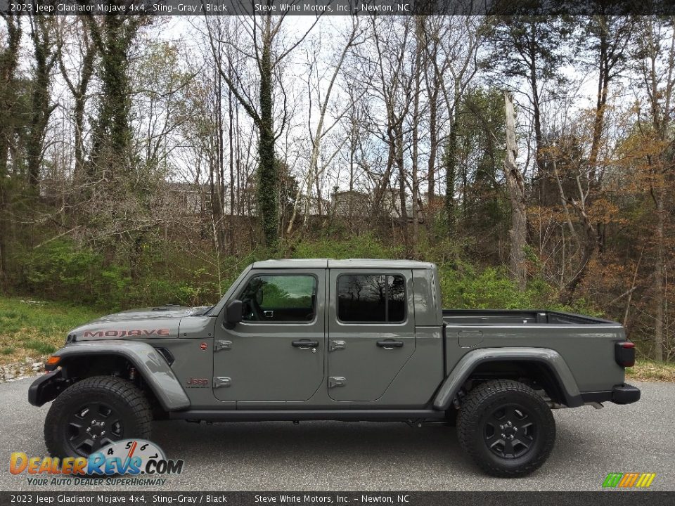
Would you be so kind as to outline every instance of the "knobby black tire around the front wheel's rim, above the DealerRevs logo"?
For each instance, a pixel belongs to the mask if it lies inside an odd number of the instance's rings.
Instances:
[[[106,406],[105,410],[100,408],[99,413],[102,414],[98,418],[105,421],[105,413],[110,410],[110,413],[115,413],[115,419],[120,423],[117,434],[113,434],[112,427],[101,427],[101,429],[108,428],[110,432],[104,436],[99,435],[98,441],[92,441],[95,445],[101,445],[102,441],[108,439],[109,442],[113,442],[130,438],[150,438],[150,422],[153,416],[143,392],[133,383],[120,377],[94,376],[72,384],[51,404],[44,421],[44,442],[50,455],[59,458],[77,457],[98,450],[92,448],[91,451],[87,451],[86,443],[75,450],[74,443],[71,443],[73,430],[79,434],[80,429],[71,427],[70,420],[74,416],[79,416],[86,406],[99,408]],[[87,424],[91,422],[89,418],[86,420]]]

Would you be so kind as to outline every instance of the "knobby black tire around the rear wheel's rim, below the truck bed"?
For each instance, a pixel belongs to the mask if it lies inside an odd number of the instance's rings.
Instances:
[[[502,419],[502,413],[513,416],[503,415]],[[527,416],[521,419],[518,413]],[[530,427],[521,427],[520,434],[511,432],[506,436],[506,443],[496,442],[504,441],[501,439],[504,432],[501,424],[495,427],[495,421],[506,423],[507,418],[512,417],[518,419],[514,425],[527,425],[529,420]],[[499,433],[494,433],[495,428]],[[508,430],[513,431],[511,427]],[[534,434],[533,441],[526,441],[529,436],[523,434],[527,431]],[[511,435],[516,439],[508,443]],[[463,398],[457,416],[457,436],[461,448],[484,472],[515,478],[534,472],[546,462],[555,444],[555,420],[544,399],[527,385],[513,380],[494,380],[480,384]],[[516,443],[520,451],[525,452],[518,455],[513,441],[520,441],[521,437],[529,446],[522,450],[525,443]],[[508,448],[513,453],[508,454],[505,444],[510,444]]]

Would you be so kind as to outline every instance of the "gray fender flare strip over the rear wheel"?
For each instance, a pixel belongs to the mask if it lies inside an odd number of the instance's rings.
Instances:
[[[434,408],[449,409],[459,389],[478,365],[486,362],[515,361],[543,363],[558,382],[558,387],[565,397],[565,405],[569,408],[577,408],[584,404],[577,381],[574,380],[572,371],[558,351],[548,348],[516,347],[482,348],[466,353],[438,389],[433,402]]]

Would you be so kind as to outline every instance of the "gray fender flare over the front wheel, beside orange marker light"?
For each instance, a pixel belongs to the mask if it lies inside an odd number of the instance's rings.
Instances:
[[[190,407],[190,399],[165,358],[153,346],[138,341],[90,341],[75,342],[53,353],[60,357],[59,364],[70,358],[97,355],[116,355],[126,358],[134,365],[158,401],[167,411],[184,410]]]

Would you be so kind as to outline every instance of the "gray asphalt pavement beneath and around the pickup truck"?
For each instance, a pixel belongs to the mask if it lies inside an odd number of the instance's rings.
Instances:
[[[30,382],[0,384],[0,491],[58,489],[37,489],[25,474],[8,472],[11,452],[46,452],[49,405],[28,404]],[[185,460],[184,472],[162,490],[598,491],[609,472],[655,472],[651,489],[675,490],[675,384],[636,385],[643,397],[631,406],[554,411],[551,458],[523,479],[484,476],[461,452],[454,428],[440,425],[157,422],[153,441],[169,458]]]

